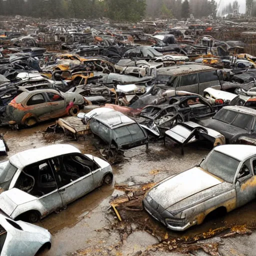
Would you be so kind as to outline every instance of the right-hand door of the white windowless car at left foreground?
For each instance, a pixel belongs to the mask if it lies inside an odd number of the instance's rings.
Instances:
[[[82,154],[67,154],[52,160],[63,205],[94,189],[91,163],[85,164]]]

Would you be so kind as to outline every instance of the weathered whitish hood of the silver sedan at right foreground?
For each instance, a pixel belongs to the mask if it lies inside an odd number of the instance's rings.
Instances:
[[[193,194],[222,182],[222,179],[200,167],[193,167],[161,181],[148,192],[148,195],[164,209],[167,209]]]

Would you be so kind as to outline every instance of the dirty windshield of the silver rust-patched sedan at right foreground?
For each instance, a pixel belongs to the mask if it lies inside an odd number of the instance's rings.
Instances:
[[[233,183],[239,163],[231,156],[212,150],[200,164],[200,167],[229,183]]]

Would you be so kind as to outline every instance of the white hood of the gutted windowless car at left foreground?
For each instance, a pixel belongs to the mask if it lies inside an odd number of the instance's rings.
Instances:
[[[18,205],[35,200],[36,198],[18,188],[11,188],[0,194],[0,209],[10,216]]]

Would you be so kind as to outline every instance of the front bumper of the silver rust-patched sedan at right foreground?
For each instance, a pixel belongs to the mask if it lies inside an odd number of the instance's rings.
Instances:
[[[167,228],[174,230],[174,231],[184,231],[190,226],[193,226],[196,224],[196,220],[189,221],[185,224],[178,225],[175,223],[175,225],[171,225],[169,223],[166,223],[165,219],[161,216],[159,212],[157,212],[155,209],[153,209],[150,204],[143,199],[143,208],[146,210],[147,213],[149,213],[153,218],[160,221],[162,224],[164,224]]]

